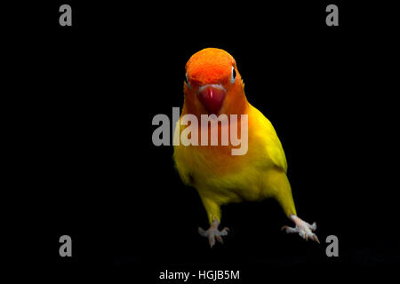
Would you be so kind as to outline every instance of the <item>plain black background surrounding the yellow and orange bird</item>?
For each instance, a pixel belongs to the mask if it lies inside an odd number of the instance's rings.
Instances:
[[[15,216],[28,221],[14,225],[38,240],[27,263],[44,260],[53,280],[162,283],[166,269],[240,270],[232,282],[244,283],[388,277],[399,260],[391,9],[334,2],[340,26],[326,27],[331,3],[303,2],[67,1],[73,27],[59,26],[64,2],[17,9],[10,169],[23,173],[12,191]],[[292,224],[273,200],[223,207],[224,245],[210,249],[198,235],[204,208],[181,184],[172,146],[153,146],[151,121],[182,106],[184,66],[205,47],[235,57],[247,98],[282,141],[298,214],[316,221],[321,245],[281,233]],[[71,258],[59,256],[63,234]],[[331,234],[339,257],[325,255]]]

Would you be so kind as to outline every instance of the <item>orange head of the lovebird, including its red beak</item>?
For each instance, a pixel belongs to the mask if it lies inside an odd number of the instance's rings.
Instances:
[[[182,114],[244,114],[247,99],[235,59],[217,48],[196,52],[186,64]]]

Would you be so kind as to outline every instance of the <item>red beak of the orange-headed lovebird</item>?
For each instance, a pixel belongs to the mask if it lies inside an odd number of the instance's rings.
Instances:
[[[204,85],[198,91],[198,99],[209,114],[218,114],[227,91],[220,85]]]

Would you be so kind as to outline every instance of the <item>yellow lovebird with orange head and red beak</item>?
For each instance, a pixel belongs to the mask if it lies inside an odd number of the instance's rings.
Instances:
[[[236,60],[227,51],[206,48],[188,60],[185,79],[184,103],[174,138],[182,139],[180,135],[188,127],[189,123],[181,123],[185,114],[198,118],[198,133],[191,135],[197,134],[199,139],[204,127],[208,127],[206,131],[209,134],[212,133],[210,126],[200,123],[202,115],[219,117],[226,114],[230,117],[228,127],[236,123],[236,128],[240,129],[243,114],[247,114],[245,154],[232,154],[232,149],[237,146],[231,142],[228,145],[180,143],[173,147],[173,159],[180,178],[185,185],[196,188],[210,223],[207,230],[199,227],[198,233],[208,238],[212,248],[215,240],[223,243],[222,236],[229,231],[227,227],[219,228],[221,205],[275,198],[294,223],[293,227],[284,225],[282,230],[319,243],[314,233],[316,223],[310,225],[297,216],[292,188],[286,176],[284,149],[271,122],[246,99]],[[231,114],[237,115],[236,121]],[[223,127],[222,123],[218,124],[218,135],[223,133]],[[210,141],[211,136],[208,138]],[[221,138],[218,141],[221,142]]]

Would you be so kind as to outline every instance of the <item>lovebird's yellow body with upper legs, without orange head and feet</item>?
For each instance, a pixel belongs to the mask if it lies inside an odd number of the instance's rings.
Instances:
[[[248,151],[232,155],[231,146],[175,146],[174,160],[180,177],[196,187],[210,223],[220,222],[220,206],[238,201],[274,197],[287,216],[295,215],[287,163],[281,142],[271,122],[247,103]],[[182,113],[184,114],[184,112]],[[175,135],[180,135],[178,122]]]

